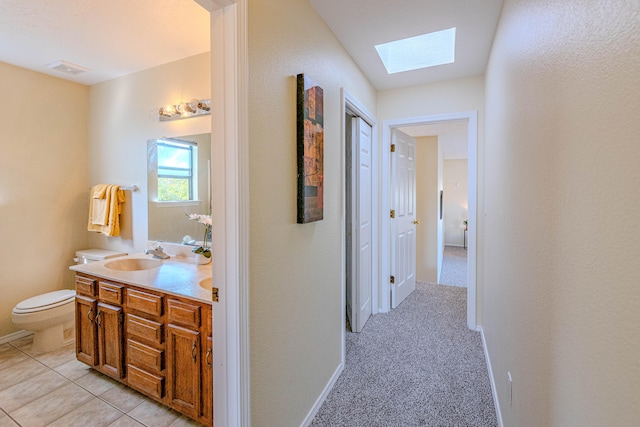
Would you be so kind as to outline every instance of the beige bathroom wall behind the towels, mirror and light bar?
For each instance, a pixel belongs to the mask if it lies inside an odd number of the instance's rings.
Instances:
[[[139,192],[127,192],[121,236],[91,233],[92,247],[128,253],[145,249],[147,140],[211,132],[211,116],[160,122],[158,108],[210,96],[208,52],[90,87],[89,185],[114,183],[140,187]],[[88,197],[88,187],[85,191]]]

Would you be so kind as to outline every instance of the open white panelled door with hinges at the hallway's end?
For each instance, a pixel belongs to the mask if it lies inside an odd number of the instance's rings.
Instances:
[[[416,140],[393,129],[391,142],[391,308],[416,288]]]

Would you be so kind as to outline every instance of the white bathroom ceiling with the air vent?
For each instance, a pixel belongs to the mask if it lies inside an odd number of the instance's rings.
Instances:
[[[208,52],[209,26],[194,0],[1,0],[0,61],[91,85]]]

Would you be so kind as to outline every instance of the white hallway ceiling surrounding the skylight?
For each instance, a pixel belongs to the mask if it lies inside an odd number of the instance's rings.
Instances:
[[[309,0],[378,90],[484,74],[503,0]],[[388,75],[375,45],[456,27],[453,64]]]

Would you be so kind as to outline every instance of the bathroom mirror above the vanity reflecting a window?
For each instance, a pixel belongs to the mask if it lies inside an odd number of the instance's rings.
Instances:
[[[211,134],[147,142],[149,240],[183,243],[204,238],[190,213],[211,213]]]

